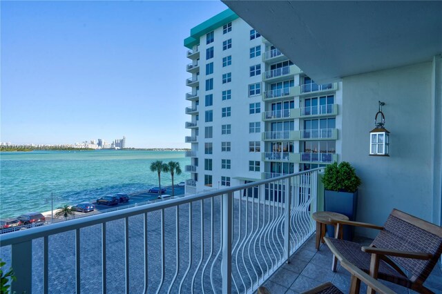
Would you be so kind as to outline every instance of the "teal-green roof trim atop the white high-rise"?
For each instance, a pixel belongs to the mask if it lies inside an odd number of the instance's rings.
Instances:
[[[191,36],[184,39],[184,46],[192,49],[193,46],[200,43],[201,36],[206,35],[208,32],[215,30],[215,28],[224,26],[226,23],[229,23],[235,19],[238,19],[238,15],[231,9],[227,9],[221,13],[216,14],[214,17],[211,17],[203,23],[200,23],[198,26],[192,28]]]

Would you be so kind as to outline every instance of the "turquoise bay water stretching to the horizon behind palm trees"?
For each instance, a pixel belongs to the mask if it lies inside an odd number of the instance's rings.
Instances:
[[[180,162],[183,173],[174,183],[189,179],[184,166],[190,159],[184,151],[93,150],[32,151],[0,153],[0,218],[30,211],[50,210],[104,195],[131,193],[158,185],[152,161]],[[162,173],[161,184],[172,184]]]

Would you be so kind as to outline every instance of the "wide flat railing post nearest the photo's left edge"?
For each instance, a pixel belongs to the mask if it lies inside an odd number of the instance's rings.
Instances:
[[[11,283],[11,293],[32,293],[32,241],[12,244],[12,269],[17,280]]]

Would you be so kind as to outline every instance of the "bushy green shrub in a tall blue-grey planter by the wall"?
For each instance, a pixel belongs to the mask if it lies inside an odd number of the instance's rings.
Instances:
[[[325,211],[347,215],[354,221],[361,179],[356,175],[352,165],[347,161],[330,164],[325,168],[323,183]],[[344,229],[344,239],[352,239],[352,231],[347,226]],[[330,237],[334,237],[334,226],[327,226],[327,232]]]

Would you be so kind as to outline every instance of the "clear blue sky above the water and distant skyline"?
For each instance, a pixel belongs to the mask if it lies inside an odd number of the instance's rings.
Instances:
[[[184,38],[220,1],[1,1],[1,134],[190,147]]]

